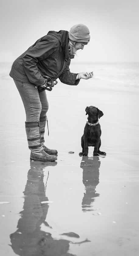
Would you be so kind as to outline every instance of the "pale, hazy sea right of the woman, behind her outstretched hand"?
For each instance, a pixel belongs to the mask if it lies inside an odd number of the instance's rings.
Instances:
[[[75,64],[77,66],[77,64]],[[75,66],[73,64],[73,66]],[[130,88],[139,88],[139,62],[129,63],[129,62],[120,62],[120,63],[81,63],[82,71],[93,71],[93,76],[95,79],[105,82],[111,82],[111,86],[114,86],[116,83],[123,84],[125,90],[127,87]],[[78,69],[79,69],[78,67]],[[85,70],[84,70],[84,69]],[[77,72],[78,73],[78,72]],[[114,82],[114,84],[113,84]]]

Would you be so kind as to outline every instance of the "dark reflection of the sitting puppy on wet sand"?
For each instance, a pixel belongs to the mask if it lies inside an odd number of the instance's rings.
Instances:
[[[99,167],[100,161],[98,157],[89,158],[82,157],[80,167],[83,169],[82,182],[85,185],[85,193],[82,199],[82,211],[93,211],[92,203],[96,193],[96,186],[99,184]]]

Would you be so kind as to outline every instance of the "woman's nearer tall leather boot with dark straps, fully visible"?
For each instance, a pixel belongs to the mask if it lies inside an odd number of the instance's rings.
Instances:
[[[40,122],[25,122],[30,159],[38,161],[55,161],[56,156],[48,155],[41,145]]]

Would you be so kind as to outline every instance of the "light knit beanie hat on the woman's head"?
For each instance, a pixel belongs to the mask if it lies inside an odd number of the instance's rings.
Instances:
[[[77,24],[71,27],[68,37],[71,41],[88,43],[90,41],[89,29],[84,24]]]

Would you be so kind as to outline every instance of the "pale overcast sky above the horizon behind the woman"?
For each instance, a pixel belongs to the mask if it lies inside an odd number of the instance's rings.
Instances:
[[[75,62],[139,62],[139,0],[0,0],[0,62],[13,62],[49,30],[85,24]]]

